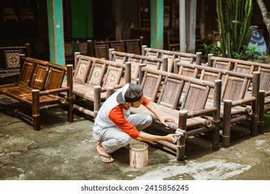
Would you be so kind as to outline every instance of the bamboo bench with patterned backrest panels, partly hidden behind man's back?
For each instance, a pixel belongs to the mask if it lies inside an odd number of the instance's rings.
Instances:
[[[75,53],[75,64],[73,95],[93,103],[93,109],[79,105],[77,100],[74,100],[73,108],[93,118],[96,118],[101,103],[131,79],[129,62],[123,64]]]

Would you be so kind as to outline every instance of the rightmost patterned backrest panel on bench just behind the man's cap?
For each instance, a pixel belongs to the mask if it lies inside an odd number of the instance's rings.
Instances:
[[[114,87],[119,85],[121,78],[123,77],[123,68],[122,67],[113,67],[109,65],[107,67],[107,72],[103,80],[102,87]]]

